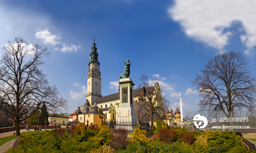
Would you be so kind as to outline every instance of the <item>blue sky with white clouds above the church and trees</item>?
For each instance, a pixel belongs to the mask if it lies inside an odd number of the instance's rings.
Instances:
[[[67,100],[62,112],[86,102],[94,36],[102,96],[118,92],[129,59],[134,88],[142,75],[157,78],[169,109],[175,112],[181,92],[183,111],[197,111],[200,97],[191,81],[215,55],[243,53],[256,77],[255,8],[251,0],[0,1],[0,48],[15,37],[48,48],[40,69]]]

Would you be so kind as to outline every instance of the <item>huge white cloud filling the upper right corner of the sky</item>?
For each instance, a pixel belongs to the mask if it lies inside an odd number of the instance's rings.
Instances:
[[[188,37],[210,47],[225,51],[231,31],[224,31],[235,22],[241,22],[245,34],[240,37],[246,54],[251,55],[256,46],[256,1],[250,0],[176,0],[168,9],[170,17],[178,21]]]

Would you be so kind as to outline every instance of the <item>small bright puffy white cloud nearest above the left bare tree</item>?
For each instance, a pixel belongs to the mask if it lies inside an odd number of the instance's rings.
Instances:
[[[37,39],[44,40],[45,44],[51,44],[55,46],[60,43],[59,41],[57,41],[60,39],[60,36],[53,35],[48,31],[48,29],[45,29],[43,31],[38,31],[37,33],[35,33],[35,37]]]

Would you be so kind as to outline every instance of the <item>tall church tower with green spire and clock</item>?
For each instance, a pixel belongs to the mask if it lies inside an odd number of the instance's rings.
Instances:
[[[95,37],[93,39],[93,46],[91,47],[89,71],[87,71],[87,94],[86,99],[89,101],[90,105],[94,101],[102,97],[101,95],[101,71],[99,71],[99,61],[97,46],[95,44]]]

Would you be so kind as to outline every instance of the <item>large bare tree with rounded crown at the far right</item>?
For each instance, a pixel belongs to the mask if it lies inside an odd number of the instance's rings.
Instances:
[[[192,83],[201,97],[200,111],[223,112],[229,118],[233,109],[255,110],[256,80],[246,70],[245,58],[236,52],[216,55],[196,75]]]

